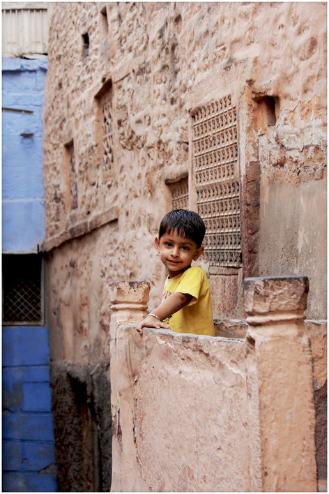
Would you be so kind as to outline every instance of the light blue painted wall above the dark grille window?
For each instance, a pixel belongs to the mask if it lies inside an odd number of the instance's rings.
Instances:
[[[36,253],[44,239],[43,99],[47,60],[2,59],[2,250]]]

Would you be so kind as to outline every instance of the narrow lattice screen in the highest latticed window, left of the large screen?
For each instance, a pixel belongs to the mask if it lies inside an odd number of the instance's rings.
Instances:
[[[100,100],[102,119],[102,168],[109,172],[113,165],[113,124],[112,124],[112,91],[102,95]]]

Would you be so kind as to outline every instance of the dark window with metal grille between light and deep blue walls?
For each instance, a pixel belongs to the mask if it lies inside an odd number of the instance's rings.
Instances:
[[[40,255],[3,255],[3,324],[43,324]]]

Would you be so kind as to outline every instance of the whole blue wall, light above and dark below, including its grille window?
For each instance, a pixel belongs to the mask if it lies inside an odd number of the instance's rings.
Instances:
[[[43,311],[31,310],[31,304],[43,303],[43,276],[35,277],[40,286],[33,298],[26,289],[31,273],[26,269],[24,274],[24,255],[26,264],[31,254],[38,255],[45,230],[42,112],[46,73],[46,59],[2,59],[2,262],[6,271],[16,256],[17,288],[10,285],[10,290],[18,293],[17,299],[3,294],[4,492],[56,491],[48,332]]]

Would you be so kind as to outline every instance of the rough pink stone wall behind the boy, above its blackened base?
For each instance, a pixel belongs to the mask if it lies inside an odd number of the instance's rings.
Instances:
[[[43,244],[54,364],[106,367],[109,283],[145,279],[149,308],[160,300],[153,241],[175,184],[188,177],[199,208],[193,118],[228,100],[242,263],[201,258],[214,317],[243,317],[245,277],[282,274],[308,276],[307,317],[326,317],[326,3],[55,3]]]

